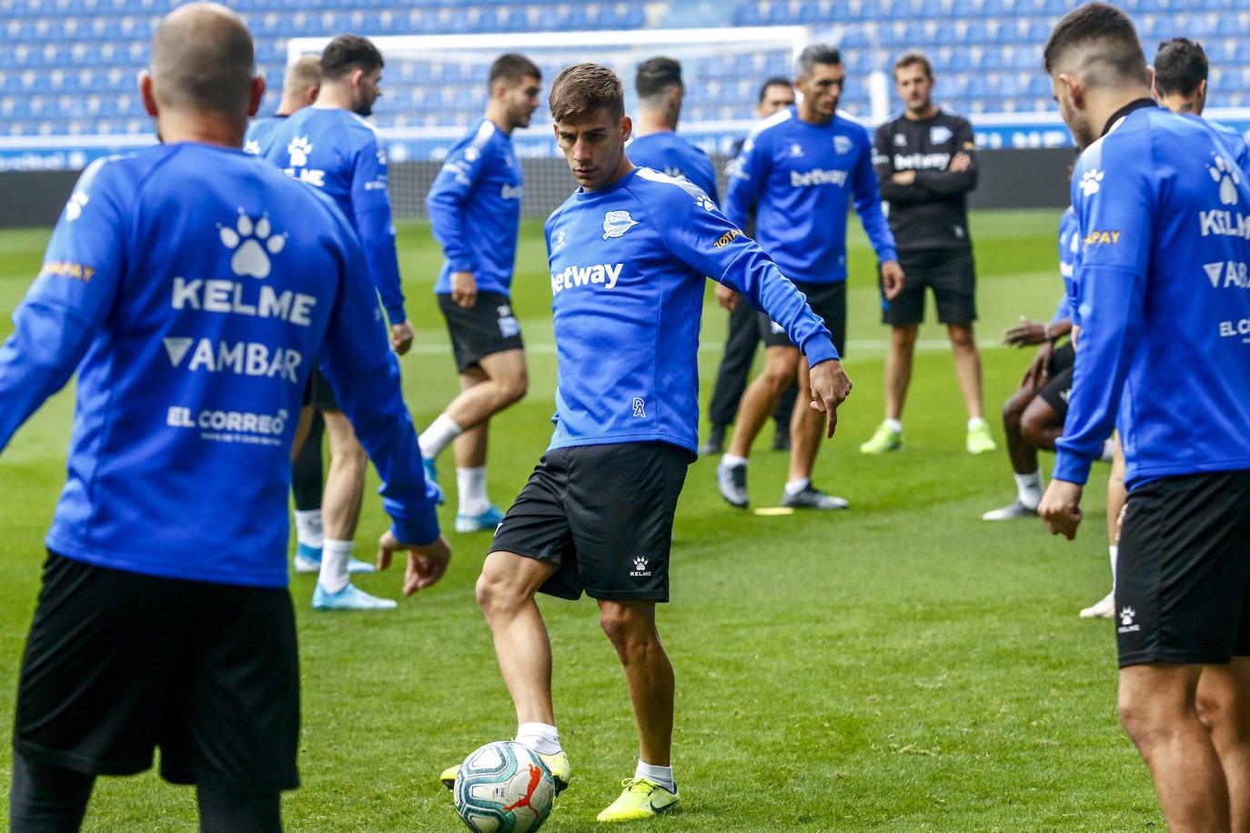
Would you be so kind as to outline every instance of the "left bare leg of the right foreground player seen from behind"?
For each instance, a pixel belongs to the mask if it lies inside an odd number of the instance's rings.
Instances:
[[[1202,666],[1120,669],[1120,722],[1150,768],[1169,831],[1231,829],[1229,786],[1194,706]]]

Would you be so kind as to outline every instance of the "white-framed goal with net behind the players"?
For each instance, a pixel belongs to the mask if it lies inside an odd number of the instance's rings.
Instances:
[[[546,89],[564,67],[595,61],[612,69],[625,85],[626,112],[634,115],[638,65],[656,55],[679,60],[686,95],[678,130],[720,170],[734,140],[754,122],[760,84],[792,77],[809,39],[804,26],[370,36],[386,60],[374,121],[394,167],[395,215],[425,215],[425,194],[439,164],[469,122],[485,112],[486,76],[504,52],[521,52],[542,71],[542,102],[530,127],[512,134],[512,142],[525,169],[522,211],[544,216],[575,187],[546,110]],[[320,54],[328,41],[290,40],[288,64]]]

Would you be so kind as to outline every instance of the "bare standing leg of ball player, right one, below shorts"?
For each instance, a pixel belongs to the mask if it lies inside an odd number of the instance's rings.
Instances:
[[[638,722],[639,758],[658,767],[671,766],[676,684],[655,627],[655,602],[600,599],[599,623],[625,668]]]

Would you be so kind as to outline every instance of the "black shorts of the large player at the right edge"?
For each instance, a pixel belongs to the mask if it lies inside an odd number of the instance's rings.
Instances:
[[[1120,667],[1250,656],[1250,470],[1129,493],[1115,566]]]

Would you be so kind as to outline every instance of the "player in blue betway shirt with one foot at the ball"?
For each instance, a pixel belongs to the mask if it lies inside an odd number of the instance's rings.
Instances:
[[[599,602],[625,668],[639,763],[602,822],[678,803],[672,666],[655,623],[668,601],[672,516],[696,457],[699,318],[706,277],[766,310],[811,365],[810,408],[831,435],[850,392],[829,331],[776,265],[686,180],[635,167],[611,70],[551,84],[555,137],[580,185],[546,222],[559,372],[555,432],[495,533],[478,601],[520,723],[556,788],[570,767],[555,728],[551,643],[534,596]],[[455,781],[456,768],[442,773]]]

